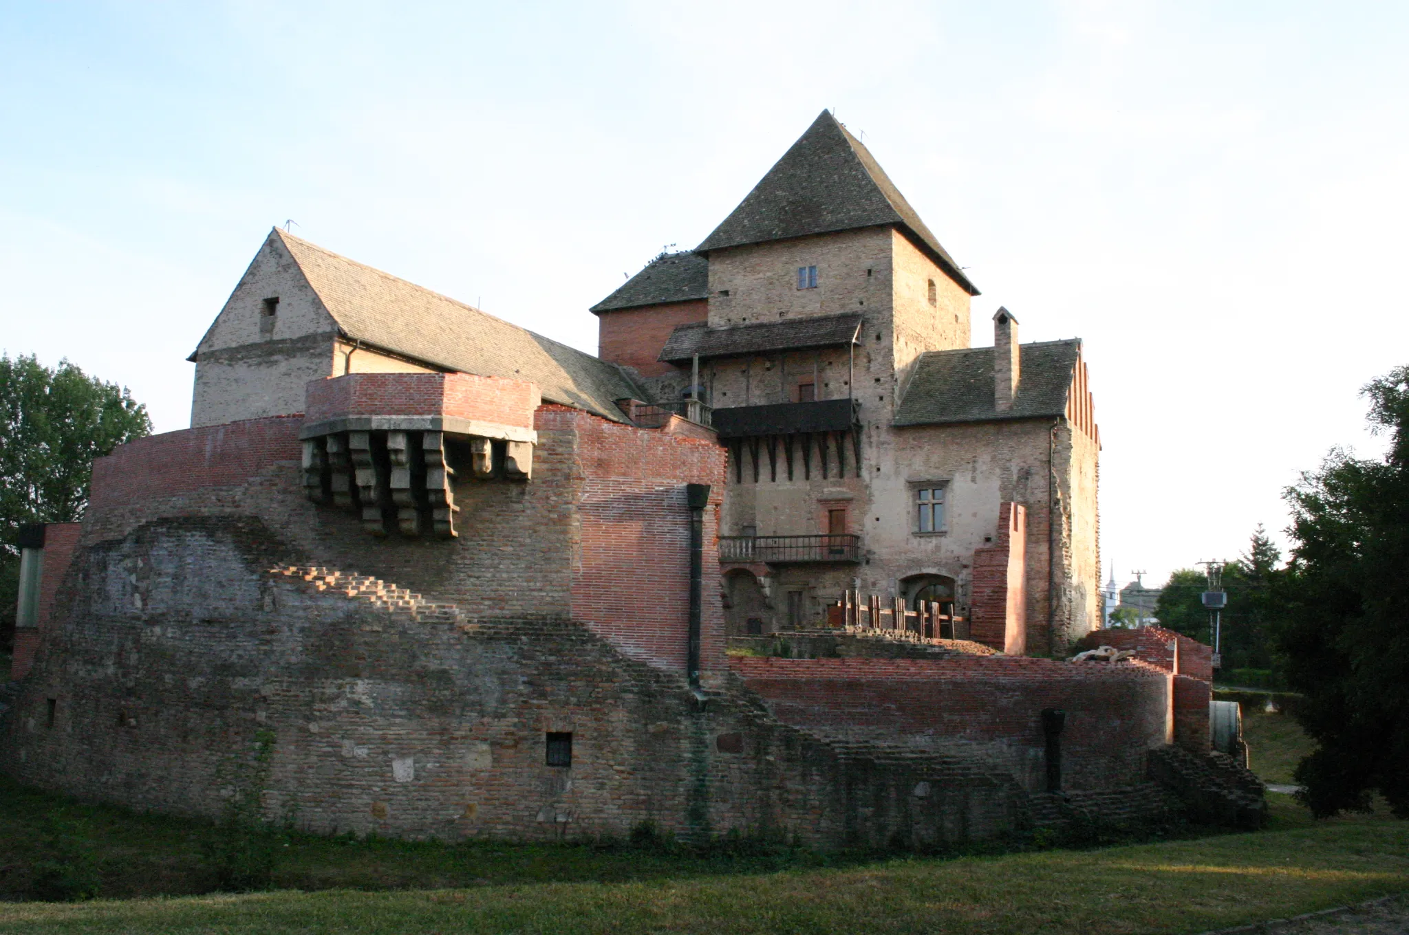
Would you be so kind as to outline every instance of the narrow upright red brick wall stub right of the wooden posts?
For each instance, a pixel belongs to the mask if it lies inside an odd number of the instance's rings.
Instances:
[[[974,549],[969,636],[1009,655],[1027,651],[1027,510],[999,507],[998,542]]]

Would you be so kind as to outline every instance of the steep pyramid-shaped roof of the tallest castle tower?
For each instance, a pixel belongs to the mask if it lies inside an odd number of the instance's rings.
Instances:
[[[871,151],[824,110],[695,249],[703,253],[882,224],[900,228],[954,282],[978,294]]]

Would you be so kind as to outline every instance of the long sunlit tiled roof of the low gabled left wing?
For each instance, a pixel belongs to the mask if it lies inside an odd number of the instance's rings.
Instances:
[[[352,341],[448,370],[530,380],[542,399],[626,421],[614,400],[641,391],[614,365],[478,308],[338,256],[275,228],[299,269]]]

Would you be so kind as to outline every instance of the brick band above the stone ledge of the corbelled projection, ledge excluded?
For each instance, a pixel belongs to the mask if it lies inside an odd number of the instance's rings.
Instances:
[[[341,415],[454,415],[530,428],[541,401],[534,383],[473,373],[349,373],[310,380],[304,391],[309,422]]]

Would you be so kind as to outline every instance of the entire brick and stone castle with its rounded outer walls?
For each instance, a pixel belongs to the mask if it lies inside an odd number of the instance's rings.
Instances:
[[[1081,342],[1000,308],[969,348],[976,294],[827,113],[592,308],[597,356],[271,231],[192,427],[27,531],[0,762],[213,814],[266,731],[271,810],[451,838],[1209,801],[1208,648],[1045,658],[1100,622],[1099,434]]]

